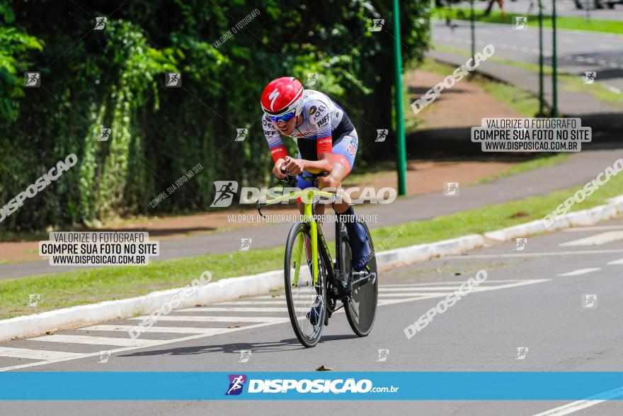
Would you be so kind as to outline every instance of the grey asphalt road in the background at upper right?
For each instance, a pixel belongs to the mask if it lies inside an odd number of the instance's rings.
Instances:
[[[469,21],[453,21],[457,27],[450,28],[443,21],[433,23],[435,45],[445,45],[471,50]],[[508,60],[539,63],[538,29],[525,27],[515,30],[514,25],[476,22],[476,50],[492,44],[495,57]],[[562,72],[578,74],[597,72],[596,81],[611,91],[623,91],[623,35],[611,33],[557,30],[558,67]],[[544,62],[551,66],[551,29],[544,29]]]

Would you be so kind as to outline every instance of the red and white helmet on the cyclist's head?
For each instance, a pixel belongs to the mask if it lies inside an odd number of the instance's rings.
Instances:
[[[270,116],[303,111],[303,84],[295,77],[273,79],[262,93],[262,108]]]

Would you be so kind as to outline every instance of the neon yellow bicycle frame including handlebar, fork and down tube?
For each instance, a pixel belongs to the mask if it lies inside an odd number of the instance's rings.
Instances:
[[[258,201],[258,211],[260,215],[262,214],[262,207],[267,205],[274,205],[276,203],[280,203],[282,201],[287,201],[292,198],[301,197],[301,201],[304,204],[304,219],[309,223],[309,234],[311,234],[311,258],[318,258],[318,236],[320,235],[320,240],[322,242],[322,252],[325,259],[328,260],[328,272],[331,274],[331,277],[336,277],[336,267],[333,264],[333,259],[331,258],[331,252],[328,251],[328,246],[326,244],[326,240],[324,240],[324,235],[322,234],[322,230],[318,227],[318,223],[316,222],[316,218],[314,217],[314,201],[316,197],[328,198],[330,202],[336,201],[338,196],[335,193],[326,192],[326,191],[316,191],[314,189],[303,190],[303,191],[293,191],[287,195],[278,196],[277,198],[269,199],[265,202]],[[305,201],[311,201],[309,203]],[[316,202],[317,203],[317,202]],[[336,235],[336,238],[339,239],[339,236]],[[296,264],[297,269],[295,270],[295,281],[296,284],[299,280],[299,268],[301,266],[301,256],[302,256],[302,248],[303,248],[303,237],[299,235],[297,240],[297,254],[296,254]],[[312,262],[313,266],[311,268],[311,276],[314,286],[318,284],[318,264],[316,262]]]

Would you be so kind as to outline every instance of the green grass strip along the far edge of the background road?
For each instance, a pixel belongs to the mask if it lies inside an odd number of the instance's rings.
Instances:
[[[433,16],[445,19],[448,16],[456,20],[469,20],[469,9],[435,9]],[[489,16],[484,16],[483,11],[476,11],[476,21],[486,23],[505,23],[515,26],[516,16],[526,16],[525,13],[506,13],[505,18],[498,10],[491,11]],[[527,16],[527,26],[539,27],[539,16]],[[543,27],[551,28],[551,15],[543,16]],[[600,21],[590,19],[587,21],[581,17],[556,16],[556,28],[571,30],[588,30],[590,32],[605,32],[623,34],[623,22],[621,21]]]

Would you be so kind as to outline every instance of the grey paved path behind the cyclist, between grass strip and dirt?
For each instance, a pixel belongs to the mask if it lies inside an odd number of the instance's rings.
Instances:
[[[358,208],[357,213],[377,214],[378,222],[370,224],[372,228],[408,221],[428,220],[439,215],[457,213],[585,184],[621,157],[623,157],[623,149],[586,150],[573,154],[554,167],[522,172],[486,184],[461,188],[459,196],[443,196],[442,189],[440,189],[439,192],[435,193],[399,198],[388,205],[377,204],[376,206],[361,207]],[[447,181],[452,181],[452,179],[447,179]],[[290,223],[263,225],[238,228],[219,234],[164,240],[160,244],[161,255],[159,259],[178,259],[208,253],[234,252],[239,249],[241,238],[253,239],[251,249],[279,247],[284,244],[290,225]],[[332,227],[329,225],[324,228],[327,239],[333,238]],[[1,264],[0,279],[76,269],[78,268],[50,266],[47,261]]]

